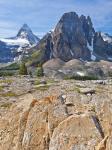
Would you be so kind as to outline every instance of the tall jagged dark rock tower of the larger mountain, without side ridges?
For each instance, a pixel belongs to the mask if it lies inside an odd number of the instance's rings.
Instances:
[[[53,32],[53,56],[68,61],[73,58],[90,59],[87,42],[91,44],[94,29],[90,18],[65,13]]]

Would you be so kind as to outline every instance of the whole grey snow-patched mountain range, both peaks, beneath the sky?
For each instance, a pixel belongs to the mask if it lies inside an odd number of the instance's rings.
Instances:
[[[47,33],[40,41],[25,24],[14,38],[0,40],[0,62],[29,57],[29,51],[36,45],[42,62],[52,58],[63,61],[112,61],[112,36],[95,31],[91,18],[78,16],[75,12],[65,13],[54,31]],[[30,51],[31,52],[31,51]]]

